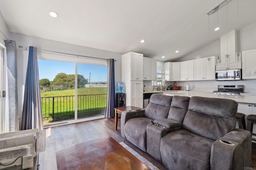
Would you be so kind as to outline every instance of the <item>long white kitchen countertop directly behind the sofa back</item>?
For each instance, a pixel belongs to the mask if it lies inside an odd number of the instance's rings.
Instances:
[[[212,97],[212,98],[220,98],[220,99],[232,99],[238,103],[253,103],[256,104],[256,96],[255,95],[217,95],[217,94],[213,94],[212,92],[208,92],[208,93],[198,93],[195,91],[168,91],[168,92],[164,92],[164,95],[170,95],[170,96],[174,96],[174,95],[179,95],[179,96],[188,96],[188,97],[192,97],[192,96],[200,96],[200,97]]]

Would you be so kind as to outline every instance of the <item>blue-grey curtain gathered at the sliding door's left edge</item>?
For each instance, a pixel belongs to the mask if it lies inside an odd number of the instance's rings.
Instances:
[[[29,47],[28,67],[24,91],[21,130],[43,130],[41,95],[39,86],[37,48]]]

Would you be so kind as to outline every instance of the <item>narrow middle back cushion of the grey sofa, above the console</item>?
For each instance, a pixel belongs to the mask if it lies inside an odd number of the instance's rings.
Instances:
[[[186,96],[172,97],[172,103],[167,118],[182,123],[188,111],[189,99],[190,97]]]

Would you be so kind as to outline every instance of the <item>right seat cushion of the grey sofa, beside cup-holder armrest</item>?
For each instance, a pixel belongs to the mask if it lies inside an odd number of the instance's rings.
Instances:
[[[162,163],[167,169],[210,169],[211,146],[214,140],[188,130],[176,130],[161,139]]]

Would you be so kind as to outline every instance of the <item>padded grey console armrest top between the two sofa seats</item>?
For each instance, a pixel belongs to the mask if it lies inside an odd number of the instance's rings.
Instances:
[[[156,119],[156,120],[154,120],[154,123],[156,123],[160,126],[166,127],[166,128],[170,128],[170,129],[172,129],[172,131],[174,131],[174,129],[179,130],[182,128],[182,123],[180,123],[178,121],[174,121],[172,119]]]

